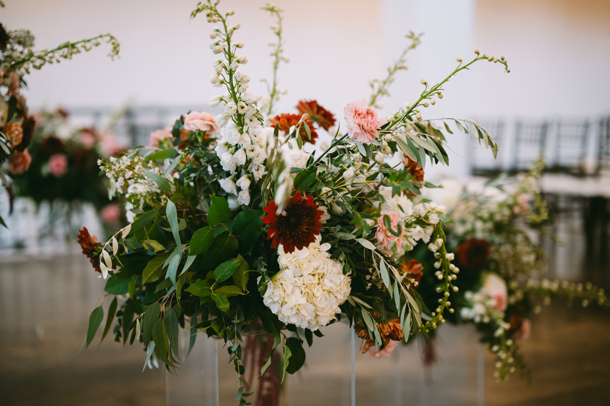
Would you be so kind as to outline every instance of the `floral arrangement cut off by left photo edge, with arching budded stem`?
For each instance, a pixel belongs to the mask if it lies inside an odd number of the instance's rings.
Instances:
[[[4,7],[1,3],[0,6]],[[9,194],[9,212],[12,211],[14,198],[11,177],[26,172],[32,163],[28,147],[34,136],[36,121],[22,93],[27,85],[24,77],[32,69],[71,59],[103,42],[112,47],[109,56],[117,57],[119,44],[110,34],[34,51],[34,35],[29,30],[7,31],[0,24],[0,181]],[[4,166],[7,161],[8,165]],[[0,225],[6,226],[2,217]]]

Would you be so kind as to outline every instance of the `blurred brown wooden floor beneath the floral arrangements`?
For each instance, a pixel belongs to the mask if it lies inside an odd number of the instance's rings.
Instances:
[[[80,256],[0,259],[1,405],[213,405],[213,340],[198,339],[177,376],[142,373],[140,346],[97,341],[76,356],[104,282]],[[109,303],[105,303],[107,306]],[[283,404],[350,405],[350,330],[331,326],[314,341]],[[185,342],[187,337],[181,337]],[[359,345],[359,343],[357,343]],[[610,404],[610,312],[551,304],[523,344],[533,385],[495,383],[485,365],[486,405]],[[476,405],[479,346],[470,327],[443,326],[439,363],[422,368],[414,342],[382,360],[356,354],[357,405]],[[234,376],[220,349],[221,404],[232,405]]]

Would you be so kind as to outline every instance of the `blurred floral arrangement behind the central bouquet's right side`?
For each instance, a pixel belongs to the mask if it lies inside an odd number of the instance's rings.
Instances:
[[[540,236],[553,220],[537,186],[543,168],[540,159],[517,178],[465,184],[447,178],[439,181],[443,187],[422,191],[447,207],[447,246],[456,253],[455,265],[450,266],[459,270],[459,279],[454,281],[459,292],[451,299],[457,311],[447,320],[475,324],[481,342],[497,357],[493,374],[498,381],[515,371],[529,379],[519,343],[528,338],[533,315],[551,298],[610,307],[603,289],[544,276],[547,262]],[[416,256],[423,264],[435,266],[439,257],[425,250]],[[442,278],[439,271],[424,273],[418,288],[430,309],[437,306],[432,289],[436,278]],[[429,345],[424,359],[434,360],[434,351],[434,345]]]

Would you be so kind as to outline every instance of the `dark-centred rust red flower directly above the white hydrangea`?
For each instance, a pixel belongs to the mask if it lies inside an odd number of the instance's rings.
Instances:
[[[320,234],[322,223],[320,218],[324,213],[318,210],[312,195],[301,195],[296,191],[295,195],[281,214],[276,214],[278,205],[275,201],[269,201],[269,205],[263,208],[267,215],[263,217],[263,223],[269,225],[267,238],[272,239],[271,248],[282,244],[285,253],[301,250],[315,241],[315,236]]]

